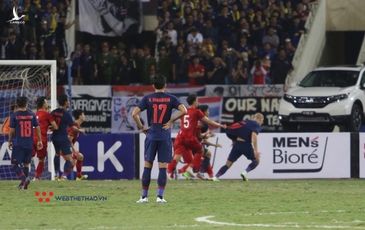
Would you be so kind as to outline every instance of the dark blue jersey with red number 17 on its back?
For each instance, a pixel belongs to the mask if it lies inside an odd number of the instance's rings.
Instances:
[[[171,131],[165,130],[162,126],[167,123],[173,109],[178,109],[181,103],[174,95],[168,93],[152,93],[142,98],[138,107],[147,110],[149,130],[148,138],[151,140],[167,140],[171,138]]]

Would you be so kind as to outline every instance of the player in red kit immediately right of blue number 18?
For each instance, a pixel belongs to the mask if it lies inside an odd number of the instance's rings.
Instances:
[[[43,169],[44,169],[44,159],[47,156],[47,143],[48,143],[48,137],[47,132],[49,127],[51,126],[52,130],[58,129],[58,126],[53,118],[53,116],[48,112],[48,102],[46,97],[39,97],[37,99],[37,120],[39,123],[39,127],[41,128],[41,141],[43,144],[43,148],[37,150],[37,142],[38,137],[34,134],[33,136],[33,154],[32,157],[37,156],[39,162],[35,171],[35,180],[39,180],[42,176]]]

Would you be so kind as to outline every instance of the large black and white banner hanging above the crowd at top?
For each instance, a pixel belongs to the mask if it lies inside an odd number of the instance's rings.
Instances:
[[[140,0],[83,0],[78,3],[82,32],[114,37],[142,31]]]

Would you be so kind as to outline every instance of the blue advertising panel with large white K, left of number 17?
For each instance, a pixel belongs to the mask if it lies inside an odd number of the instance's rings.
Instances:
[[[134,134],[81,135],[78,149],[85,156],[82,171],[89,179],[134,178]]]

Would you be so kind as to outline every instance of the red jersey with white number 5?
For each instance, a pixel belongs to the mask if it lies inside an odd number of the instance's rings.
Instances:
[[[180,135],[183,137],[196,137],[198,122],[205,117],[205,115],[197,108],[190,107],[187,110],[187,114],[181,118]]]

